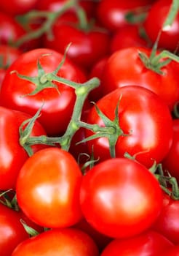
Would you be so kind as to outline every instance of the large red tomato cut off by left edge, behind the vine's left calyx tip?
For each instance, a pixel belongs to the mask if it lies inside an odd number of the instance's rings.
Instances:
[[[15,189],[17,175],[28,154],[20,146],[19,127],[23,121],[31,118],[27,113],[0,107],[0,190]],[[46,135],[44,128],[35,122],[32,136]],[[33,146],[33,152],[46,146]]]

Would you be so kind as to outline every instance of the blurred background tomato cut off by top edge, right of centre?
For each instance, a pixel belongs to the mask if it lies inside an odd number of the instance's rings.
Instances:
[[[151,3],[151,0],[99,1],[96,18],[110,31],[116,31],[129,23],[126,19],[128,12],[139,14],[143,12],[143,7]]]

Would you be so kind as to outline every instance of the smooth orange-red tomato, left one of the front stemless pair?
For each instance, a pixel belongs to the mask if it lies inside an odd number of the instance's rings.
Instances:
[[[17,203],[44,227],[68,227],[81,219],[81,170],[60,148],[44,148],[28,158],[17,178]],[[43,212],[43,214],[41,214]]]

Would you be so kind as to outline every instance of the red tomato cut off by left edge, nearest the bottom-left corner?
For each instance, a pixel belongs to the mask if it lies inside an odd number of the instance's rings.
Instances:
[[[0,254],[1,256],[11,256],[15,247],[21,241],[27,239],[26,233],[22,223],[20,222],[20,215],[17,211],[8,208],[0,203]]]

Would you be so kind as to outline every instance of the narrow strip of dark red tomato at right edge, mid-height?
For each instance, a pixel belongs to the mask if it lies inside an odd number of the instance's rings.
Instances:
[[[179,119],[172,120],[173,138],[172,146],[167,156],[162,161],[163,169],[168,170],[172,177],[179,181],[179,163],[176,159],[179,158]]]

